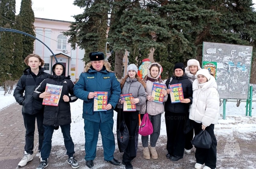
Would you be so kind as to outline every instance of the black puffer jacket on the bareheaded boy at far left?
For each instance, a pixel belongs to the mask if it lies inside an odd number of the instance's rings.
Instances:
[[[28,114],[36,114],[43,110],[43,99],[35,100],[33,93],[37,86],[50,74],[44,72],[44,68],[39,66],[39,72],[35,75],[31,72],[30,67],[23,71],[23,75],[17,83],[17,86],[13,92],[15,100],[22,105],[22,112]],[[34,78],[34,77],[35,78]],[[25,90],[25,96],[23,96]]]

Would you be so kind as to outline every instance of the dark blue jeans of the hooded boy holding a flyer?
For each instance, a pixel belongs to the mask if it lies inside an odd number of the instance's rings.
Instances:
[[[52,149],[52,134],[53,134],[54,128],[55,128],[54,126],[44,125],[44,141],[41,149],[41,157],[42,157],[42,160],[45,160],[45,161],[50,156],[50,152]],[[60,126],[60,128],[63,134],[67,155],[69,158],[73,157],[73,154],[75,154],[75,151],[74,151],[74,142],[70,136],[70,124]]]

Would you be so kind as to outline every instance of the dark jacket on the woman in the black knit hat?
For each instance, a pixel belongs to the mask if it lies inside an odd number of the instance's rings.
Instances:
[[[168,88],[169,88],[170,79],[171,78],[169,78],[165,82],[165,85],[168,86]],[[176,84],[176,83],[182,84],[184,98],[190,99],[190,103],[171,103],[171,97],[170,95],[168,95],[168,99],[165,102],[164,110],[171,111],[174,113],[188,113],[189,105],[192,103],[192,96],[193,96],[192,83],[191,81],[188,80],[187,75],[183,75],[181,77],[172,76],[172,81],[170,84]]]

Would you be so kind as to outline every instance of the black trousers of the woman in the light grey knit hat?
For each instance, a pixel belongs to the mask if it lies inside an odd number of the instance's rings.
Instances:
[[[137,155],[139,136],[139,111],[124,111],[124,121],[130,135],[127,148],[124,150],[123,154],[123,162],[126,163],[131,162]]]

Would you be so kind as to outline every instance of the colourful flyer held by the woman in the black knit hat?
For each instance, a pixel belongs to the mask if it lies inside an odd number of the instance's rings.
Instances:
[[[171,89],[171,92],[170,92],[171,102],[180,103],[180,100],[184,99],[182,84],[181,83],[172,84],[172,85],[169,85],[169,88]]]

